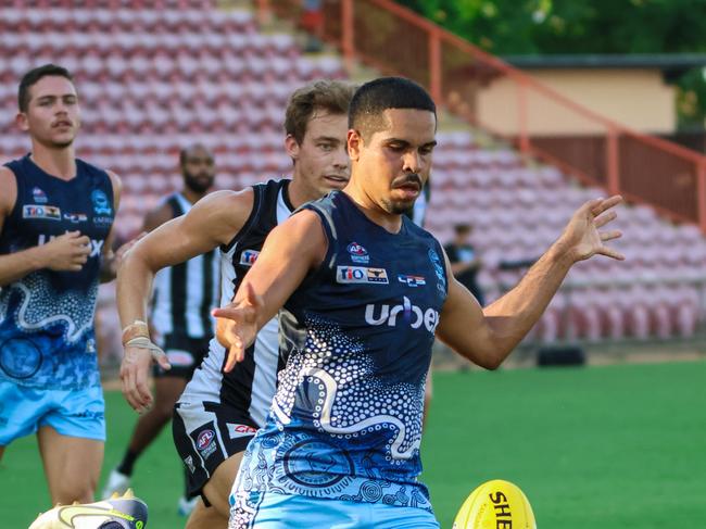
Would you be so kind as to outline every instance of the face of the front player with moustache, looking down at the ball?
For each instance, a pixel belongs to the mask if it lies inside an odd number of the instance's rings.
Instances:
[[[349,146],[368,199],[396,215],[414,205],[429,178],[437,122],[416,109],[388,109],[384,117],[387,127],[367,141],[352,130]]]

